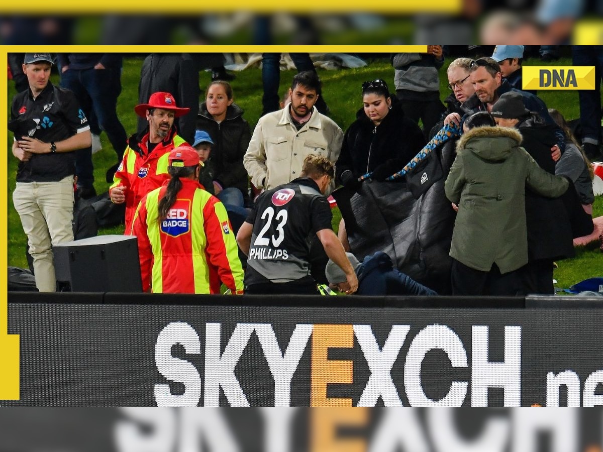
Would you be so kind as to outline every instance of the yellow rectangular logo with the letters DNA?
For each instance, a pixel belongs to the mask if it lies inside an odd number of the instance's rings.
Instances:
[[[523,66],[523,89],[595,89],[595,66]]]

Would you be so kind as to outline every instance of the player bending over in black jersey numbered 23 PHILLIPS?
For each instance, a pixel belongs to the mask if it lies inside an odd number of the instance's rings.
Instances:
[[[333,180],[333,165],[320,155],[308,155],[301,177],[262,193],[236,236],[247,254],[245,293],[317,294],[309,269],[312,236],[346,274],[353,293],[358,278],[343,245],[331,229],[329,201],[323,196]]]

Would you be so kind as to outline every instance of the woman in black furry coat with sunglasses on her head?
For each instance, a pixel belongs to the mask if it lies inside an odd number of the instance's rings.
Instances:
[[[352,188],[368,172],[373,172],[374,180],[385,180],[425,146],[421,129],[404,116],[385,81],[363,83],[362,102],[364,107],[346,130],[335,165],[336,181]]]

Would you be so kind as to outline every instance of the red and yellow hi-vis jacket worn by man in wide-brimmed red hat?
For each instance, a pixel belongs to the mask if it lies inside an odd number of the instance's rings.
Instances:
[[[148,152],[148,133],[140,138],[140,135],[131,136],[128,146],[125,148],[124,159],[121,161],[111,190],[117,186],[126,187],[125,190],[125,234],[129,234],[132,228],[134,212],[142,196],[151,190],[162,186],[163,182],[169,180],[168,155],[172,149],[186,143],[185,139],[176,134],[175,127],[169,131],[168,136],[157,143],[152,152]]]

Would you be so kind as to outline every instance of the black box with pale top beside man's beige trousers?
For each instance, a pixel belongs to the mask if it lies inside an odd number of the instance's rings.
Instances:
[[[52,247],[58,290],[142,292],[133,236],[96,236]]]

